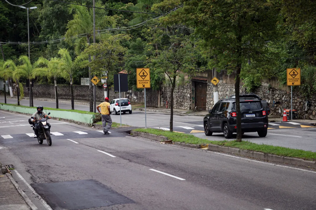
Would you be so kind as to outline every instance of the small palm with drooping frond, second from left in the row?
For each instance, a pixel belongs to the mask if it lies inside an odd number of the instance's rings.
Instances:
[[[20,105],[20,100],[23,99],[24,97],[24,93],[23,93],[23,85],[19,82],[20,80],[20,75],[14,75],[14,72],[17,71],[17,67],[15,66],[15,63],[13,60],[7,60],[4,64],[3,64],[4,68],[5,68],[5,74],[7,75],[7,77],[12,78],[13,82],[16,83],[16,95],[18,98],[18,105]],[[20,94],[20,93],[21,94]]]

